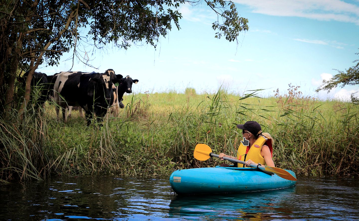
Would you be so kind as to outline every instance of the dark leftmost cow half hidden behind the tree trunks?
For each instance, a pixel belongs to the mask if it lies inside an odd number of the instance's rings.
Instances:
[[[18,81],[22,83],[25,88],[26,79],[29,75],[29,71],[25,72],[23,77],[18,78]],[[34,72],[34,75],[31,79],[32,91],[34,91],[34,87],[38,87],[39,97],[37,98],[36,104],[38,107],[43,107],[45,102],[49,99],[50,93],[52,90],[51,86],[52,75],[47,76],[45,73]]]

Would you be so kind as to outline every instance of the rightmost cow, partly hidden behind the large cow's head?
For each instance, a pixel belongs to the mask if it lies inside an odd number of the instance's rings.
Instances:
[[[113,72],[114,74],[115,72]],[[118,112],[120,111],[120,108],[124,108],[125,105],[122,104],[123,101],[123,94],[126,93],[132,93],[132,83],[137,83],[138,80],[132,80],[130,76],[122,77],[122,75],[115,75],[117,80],[120,80],[120,83],[118,86],[116,86],[116,93],[114,93],[114,100],[111,105],[111,108],[109,110],[110,113],[113,114],[113,116],[117,117]],[[115,78],[114,75],[112,75],[112,79]]]

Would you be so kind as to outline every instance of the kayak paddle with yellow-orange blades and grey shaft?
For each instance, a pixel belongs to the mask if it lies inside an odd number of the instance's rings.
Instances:
[[[197,144],[195,147],[195,151],[193,153],[193,156],[197,159],[197,160],[208,160],[210,157],[219,157],[219,155],[217,154],[213,154],[211,148],[207,145],[207,144]],[[229,160],[230,162],[233,163],[241,163],[241,164],[246,164],[244,161],[241,160],[237,160],[237,159],[233,159],[233,158],[229,158],[229,157],[223,157],[223,159],[225,160]],[[255,167],[258,169],[262,169],[268,172],[272,172],[277,174],[277,176],[284,178],[284,179],[288,179],[291,181],[297,181],[297,178],[293,177],[292,174],[290,174],[288,171],[284,170],[284,169],[280,169],[280,168],[276,168],[276,167],[270,167],[267,165],[252,165],[253,163],[250,164],[250,167]]]

